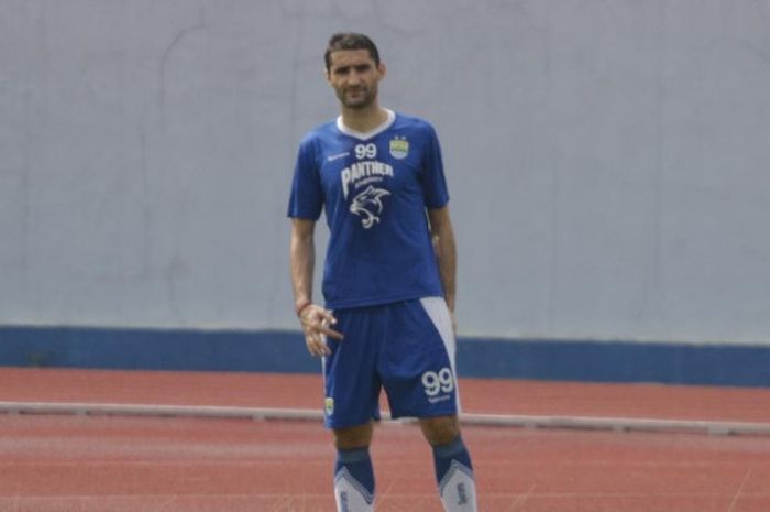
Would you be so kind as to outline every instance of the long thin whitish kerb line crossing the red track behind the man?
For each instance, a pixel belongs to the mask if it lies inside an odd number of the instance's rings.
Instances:
[[[244,420],[302,420],[322,421],[320,410],[277,407],[222,407],[212,405],[147,405],[110,403],[57,403],[57,402],[0,402],[0,413],[6,414],[74,414],[116,416],[175,416]],[[507,426],[524,428],[580,428],[601,431],[692,432],[710,435],[770,436],[768,423],[740,423],[692,420],[653,420],[629,417],[591,416],[525,416],[514,414],[463,413],[464,425]],[[410,422],[391,418],[383,413],[383,421]]]

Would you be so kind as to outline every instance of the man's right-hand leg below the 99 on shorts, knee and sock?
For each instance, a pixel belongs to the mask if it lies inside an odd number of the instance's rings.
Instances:
[[[476,512],[473,465],[460,436],[458,416],[424,417],[420,427],[433,449],[436,481],[444,511]]]

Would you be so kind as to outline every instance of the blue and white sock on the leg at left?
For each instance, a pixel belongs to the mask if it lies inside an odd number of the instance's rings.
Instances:
[[[338,512],[373,510],[374,470],[369,448],[337,450],[334,498]]]

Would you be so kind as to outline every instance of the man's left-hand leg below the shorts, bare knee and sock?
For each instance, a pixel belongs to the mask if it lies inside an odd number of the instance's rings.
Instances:
[[[372,422],[334,428],[334,498],[338,512],[374,510],[374,470],[369,455],[372,433]]]

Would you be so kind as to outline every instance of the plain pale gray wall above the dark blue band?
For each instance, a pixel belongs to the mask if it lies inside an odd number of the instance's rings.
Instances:
[[[0,0],[0,323],[295,328],[293,160],[354,29],[441,137],[461,334],[770,344],[769,26],[768,0]]]

